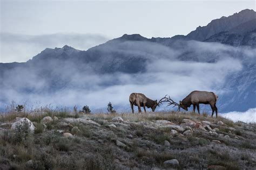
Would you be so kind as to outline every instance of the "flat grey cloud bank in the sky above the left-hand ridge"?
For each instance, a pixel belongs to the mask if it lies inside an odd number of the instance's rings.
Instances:
[[[45,48],[72,46],[86,50],[103,44],[109,38],[99,34],[56,33],[30,36],[24,34],[0,34],[0,62],[25,62]]]

